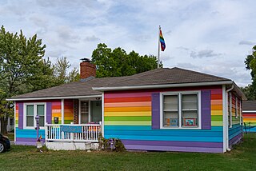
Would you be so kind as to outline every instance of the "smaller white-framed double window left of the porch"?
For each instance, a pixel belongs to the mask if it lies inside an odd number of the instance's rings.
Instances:
[[[45,125],[45,116],[46,116],[46,105],[45,104],[25,104],[25,119],[24,123],[26,127],[35,127],[36,121],[35,117],[38,115],[39,126]]]

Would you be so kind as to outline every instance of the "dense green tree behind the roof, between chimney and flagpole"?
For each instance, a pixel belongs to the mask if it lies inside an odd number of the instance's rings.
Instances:
[[[122,48],[111,50],[104,43],[98,44],[97,49],[93,51],[92,62],[96,65],[98,78],[128,76],[158,67],[158,61],[154,55],[140,56],[134,50],[126,54]]]

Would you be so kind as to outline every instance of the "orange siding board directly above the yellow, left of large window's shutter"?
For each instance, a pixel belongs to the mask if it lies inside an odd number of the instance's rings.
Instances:
[[[105,112],[141,112],[141,111],[151,111],[151,107],[106,107]]]

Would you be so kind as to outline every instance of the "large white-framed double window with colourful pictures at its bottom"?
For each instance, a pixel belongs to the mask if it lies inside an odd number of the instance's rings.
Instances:
[[[162,128],[200,128],[200,92],[162,93]]]

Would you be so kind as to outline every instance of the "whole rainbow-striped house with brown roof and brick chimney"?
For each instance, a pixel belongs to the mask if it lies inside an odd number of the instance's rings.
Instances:
[[[80,82],[11,97],[15,143],[35,145],[36,115],[51,149],[97,146],[100,132],[134,150],[225,153],[242,139],[246,97],[230,79],[176,67],[118,78],[95,73],[81,62]]]

